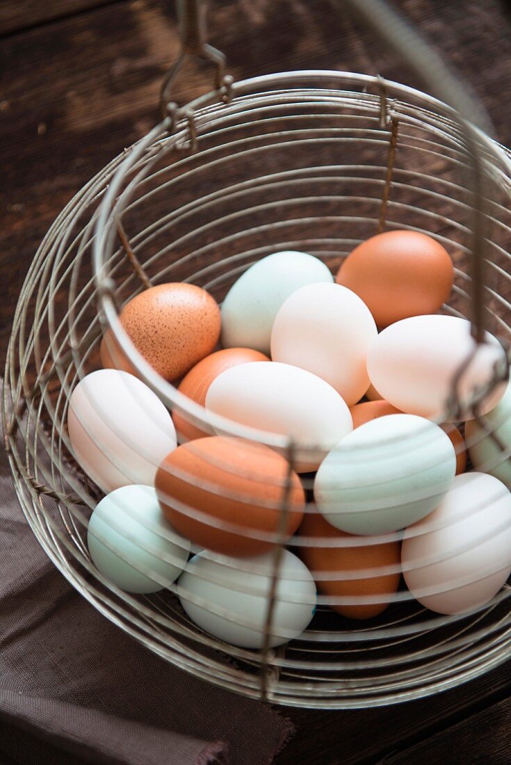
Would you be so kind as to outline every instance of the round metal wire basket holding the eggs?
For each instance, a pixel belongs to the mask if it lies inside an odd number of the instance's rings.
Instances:
[[[484,324],[509,341],[506,149],[475,129],[470,145],[450,106],[380,77],[311,71],[233,83],[220,71],[216,85],[186,109],[168,110],[166,96],[161,124],[76,194],[37,251],[15,313],[3,402],[22,509],[47,555],[94,607],[175,666],[223,688],[284,705],[356,708],[453,687],[509,656],[509,585],[485,607],[449,617],[400,589],[367,623],[333,614],[323,595],[308,630],[271,647],[288,481],[271,538],[260,650],[197,627],[177,595],[193,597],[179,584],[130,595],[90,559],[86,532],[101,493],[73,460],[66,422],[77,382],[100,366],[106,327],[169,409],[201,428],[214,425],[285,450],[291,466],[295,460],[288,438],[207,418],[136,352],[119,309],[148,286],[189,282],[221,302],[269,253],[304,250],[334,270],[374,233],[410,229],[434,236],[453,256],[454,289],[442,311],[474,319],[474,298],[483,298],[476,332]],[[473,258],[474,146],[485,179],[477,210],[484,282]],[[254,560],[242,559],[241,568],[256,574]],[[392,571],[399,567],[386,569]]]

